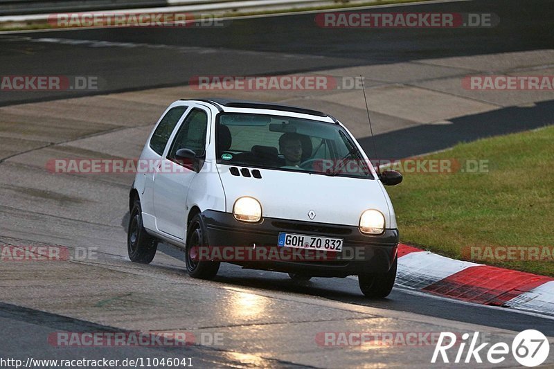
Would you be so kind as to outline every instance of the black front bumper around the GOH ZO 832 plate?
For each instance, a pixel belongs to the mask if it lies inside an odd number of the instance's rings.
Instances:
[[[272,248],[280,251],[298,249],[278,248],[280,232],[317,235],[343,239],[340,253],[323,252],[316,258],[294,260],[223,260],[251,269],[304,273],[319,277],[346,277],[363,273],[384,273],[391,269],[398,245],[398,230],[386,229],[382,235],[364,235],[357,226],[339,226],[288,219],[264,218],[251,224],[239,222],[231,213],[206,210],[202,213],[210,246],[242,246],[256,249]],[[258,250],[259,251],[259,250]],[[300,251],[302,252],[302,251]]]

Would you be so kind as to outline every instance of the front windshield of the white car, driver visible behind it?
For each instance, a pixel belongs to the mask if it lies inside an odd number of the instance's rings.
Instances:
[[[338,124],[260,114],[220,114],[217,163],[373,179]]]

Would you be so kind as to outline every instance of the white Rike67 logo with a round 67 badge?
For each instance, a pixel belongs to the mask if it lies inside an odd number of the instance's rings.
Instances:
[[[481,355],[483,355],[489,363],[498,364],[506,360],[506,356],[510,353],[510,346],[508,343],[494,343],[494,345],[491,345],[487,350],[485,348],[490,345],[489,342],[477,345],[478,342],[479,332],[474,332],[471,338],[469,333],[463,334],[461,342],[458,344],[456,344],[456,334],[451,332],[440,332],[431,363],[437,362],[439,354],[443,363],[449,363],[452,356],[449,358],[447,351],[453,348],[454,345],[458,346],[458,351],[453,363],[471,363],[472,361],[483,363],[483,359],[481,359]],[[467,352],[464,352],[468,343],[469,348],[467,348]],[[548,358],[550,344],[546,336],[541,332],[537,330],[524,330],[523,332],[519,332],[519,334],[515,336],[514,341],[512,341],[511,352],[514,359],[520,365],[527,367],[539,366]]]

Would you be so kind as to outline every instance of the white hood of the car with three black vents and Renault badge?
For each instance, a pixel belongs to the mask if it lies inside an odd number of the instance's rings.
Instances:
[[[358,226],[364,210],[377,209],[385,216],[386,228],[391,228],[388,197],[377,180],[264,169],[258,169],[257,179],[233,175],[229,165],[217,168],[229,213],[239,197],[250,196],[260,201],[263,217]]]

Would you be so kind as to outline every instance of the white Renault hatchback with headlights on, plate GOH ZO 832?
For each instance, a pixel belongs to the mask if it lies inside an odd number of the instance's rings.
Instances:
[[[355,275],[366,296],[388,296],[398,231],[385,185],[332,116],[218,98],[179,100],[148,137],[129,194],[127,249],[149,263],[158,242],[185,251],[194,278],[220,262],[296,280]]]

